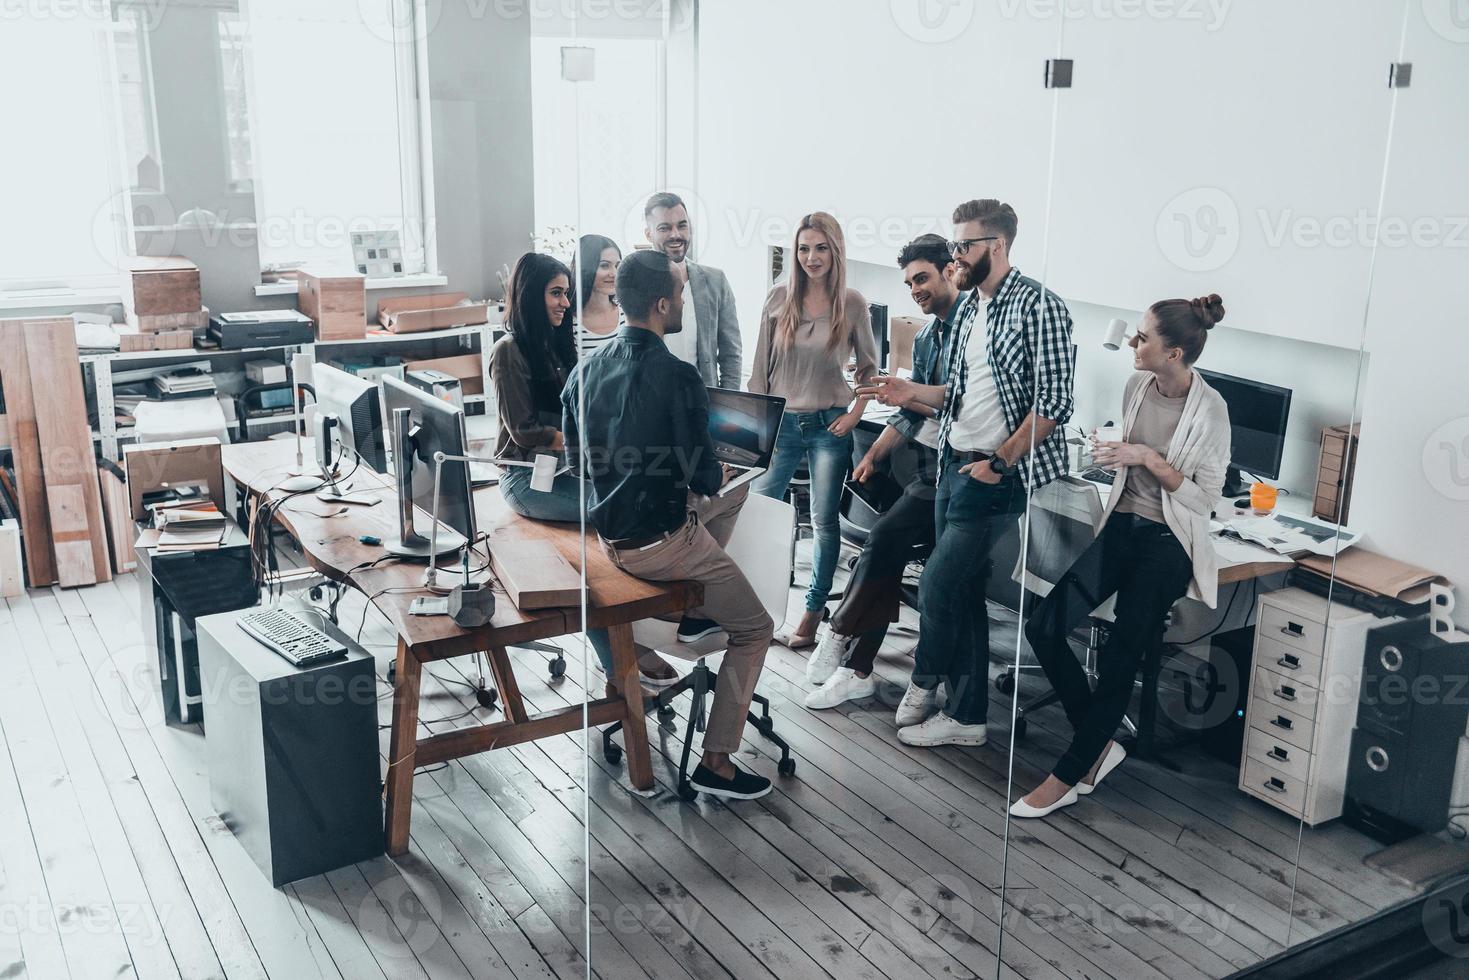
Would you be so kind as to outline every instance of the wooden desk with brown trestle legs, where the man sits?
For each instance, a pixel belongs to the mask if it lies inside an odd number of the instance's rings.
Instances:
[[[275,485],[286,476],[295,461],[295,444],[266,439],[226,445],[222,457],[225,472],[241,488],[275,498],[281,497]],[[301,544],[301,551],[313,569],[363,592],[388,617],[398,636],[385,817],[388,854],[398,855],[408,849],[416,767],[566,735],[582,727],[582,705],[527,714],[505,652],[507,646],[579,632],[582,611],[577,607],[521,611],[505,598],[504,592],[497,592],[495,619],[480,629],[461,629],[447,616],[408,616],[408,604],[416,597],[427,594],[422,586],[423,564],[383,561],[372,569],[361,567],[380,558],[385,551],[380,545],[364,545],[358,538],[376,535],[386,539],[397,530],[395,491],[386,478],[366,469],[358,469],[353,476],[354,489],[373,482],[383,488],[382,500],[373,507],[353,505],[345,514],[323,517],[339,510],[339,505],[326,504],[313,494],[306,494],[282,504],[276,511],[276,520]],[[549,541],[573,569],[582,569],[583,539],[579,527],[526,520],[505,507],[495,488],[476,491],[474,519],[482,533]],[[623,723],[627,776],[635,788],[651,789],[652,761],[643,724],[642,686],[638,680],[632,624],[642,619],[692,608],[704,601],[704,591],[693,582],[655,583],[627,574],[607,560],[595,535],[588,535],[585,547],[586,624],[607,627],[611,635],[616,691],[621,692],[591,701],[586,705],[586,723],[591,726]],[[423,664],[480,651],[489,654],[505,720],[417,738],[419,680]],[[608,692],[613,692],[611,686]]]

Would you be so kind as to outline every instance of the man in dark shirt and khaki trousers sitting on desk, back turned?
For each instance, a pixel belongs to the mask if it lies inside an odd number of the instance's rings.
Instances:
[[[617,567],[651,582],[704,586],[693,614],[729,633],[729,646],[690,782],[711,796],[755,799],[770,792],[770,780],[740,770],[730,755],[776,624],[724,552],[749,486],[715,497],[729,472],[714,457],[708,392],[698,369],[663,342],[683,329],[668,257],[635,251],[623,259],[617,300],[627,323],[561,392],[567,457],[588,470],[588,520]]]

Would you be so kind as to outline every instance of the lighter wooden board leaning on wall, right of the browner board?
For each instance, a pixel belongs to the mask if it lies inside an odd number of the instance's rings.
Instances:
[[[62,586],[106,582],[112,567],[76,334],[69,317],[26,320],[24,331],[56,579]]]

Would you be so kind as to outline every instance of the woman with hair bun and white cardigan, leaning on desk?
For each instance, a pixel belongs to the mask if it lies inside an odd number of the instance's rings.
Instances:
[[[1112,735],[1169,607],[1184,595],[1215,605],[1209,516],[1230,466],[1230,413],[1193,363],[1221,319],[1218,295],[1159,300],[1128,342],[1137,373],[1122,395],[1122,438],[1093,453],[1116,470],[1099,533],[1025,623],[1074,735],[1050,776],[1011,807],[1015,817],[1069,807],[1127,758]],[[1116,621],[1091,691],[1066,636],[1114,592]]]

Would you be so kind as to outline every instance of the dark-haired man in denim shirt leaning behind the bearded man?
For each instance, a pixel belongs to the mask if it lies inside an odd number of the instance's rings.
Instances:
[[[942,235],[921,235],[898,254],[898,267],[918,309],[933,319],[914,338],[912,370],[920,385],[943,385],[948,345],[959,310],[959,289],[949,278],[953,257]],[[906,472],[902,497],[868,532],[852,570],[846,598],[831,629],[806,661],[806,679],[821,685],[806,696],[808,708],[834,708],[877,692],[873,660],[898,621],[903,569],[915,550],[933,548],[933,497],[939,473],[939,423],[931,408],[902,408],[856,464],[853,478],[868,483],[877,464],[895,457]],[[843,663],[845,661],[845,663]]]

